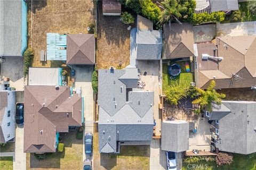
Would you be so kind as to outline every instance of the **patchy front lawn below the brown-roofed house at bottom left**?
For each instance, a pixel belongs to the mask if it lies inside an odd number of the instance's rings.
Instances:
[[[27,156],[27,159],[30,158],[27,167],[30,166],[31,169],[82,169],[83,140],[76,139],[76,131],[62,135],[62,138],[61,142],[65,144],[63,152],[47,153],[46,158],[41,160],[38,160],[34,154],[30,154]]]

